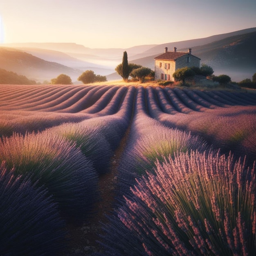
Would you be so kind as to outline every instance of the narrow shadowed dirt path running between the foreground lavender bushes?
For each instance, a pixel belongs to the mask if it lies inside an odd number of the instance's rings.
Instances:
[[[121,140],[119,147],[111,159],[110,172],[99,176],[100,202],[94,205],[92,217],[80,224],[68,223],[67,248],[59,254],[60,256],[80,256],[92,255],[95,252],[103,253],[103,248],[97,243],[100,240],[99,234],[101,222],[107,223],[106,215],[111,215],[113,211],[112,203],[115,202],[115,184],[117,183],[118,162],[126,146],[129,130]]]

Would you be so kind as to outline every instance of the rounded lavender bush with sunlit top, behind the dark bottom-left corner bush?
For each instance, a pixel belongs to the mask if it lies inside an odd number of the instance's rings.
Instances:
[[[13,134],[0,141],[0,161],[7,170],[45,186],[58,207],[69,216],[82,217],[97,200],[98,176],[79,148],[51,133]]]

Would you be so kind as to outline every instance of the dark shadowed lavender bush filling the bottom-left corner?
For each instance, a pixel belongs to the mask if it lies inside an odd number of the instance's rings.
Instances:
[[[56,255],[65,223],[47,191],[0,165],[0,255]]]

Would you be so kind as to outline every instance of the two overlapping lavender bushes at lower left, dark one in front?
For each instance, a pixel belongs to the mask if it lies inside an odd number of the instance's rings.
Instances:
[[[0,254],[56,255],[63,220],[83,220],[99,200],[92,161],[74,141],[38,132],[3,137],[0,162]]]

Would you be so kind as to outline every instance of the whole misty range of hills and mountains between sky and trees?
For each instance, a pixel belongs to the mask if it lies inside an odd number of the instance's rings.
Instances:
[[[128,49],[91,49],[76,43],[2,44],[0,68],[26,75],[33,80],[49,80],[64,73],[75,81],[85,70],[93,70],[96,74],[106,75],[108,80],[113,80],[121,79],[115,73],[115,67],[121,63],[125,50],[130,63],[154,70],[154,57],[163,53],[165,47],[168,47],[169,51],[177,47],[177,51],[187,51],[188,48],[192,48],[192,54],[201,58],[201,63],[212,66],[214,74],[228,74],[233,81],[241,81],[251,78],[256,72],[254,45],[256,45],[256,27],[207,38],[161,45],[139,45]],[[17,48],[23,52],[23,55],[16,52],[19,57],[13,54],[9,59],[6,56],[4,59],[1,51],[4,47],[1,46],[12,47],[9,50],[13,49],[13,51]],[[25,52],[30,56],[25,55]]]

